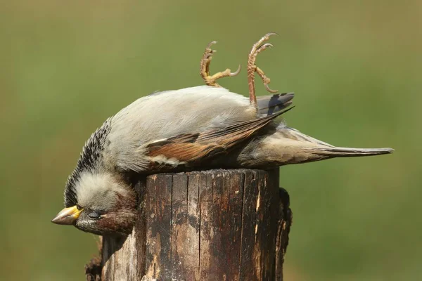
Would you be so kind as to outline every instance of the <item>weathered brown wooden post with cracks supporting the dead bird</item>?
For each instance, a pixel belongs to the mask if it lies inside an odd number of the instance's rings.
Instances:
[[[279,169],[157,174],[137,189],[132,234],[103,237],[87,280],[283,280],[292,215]]]

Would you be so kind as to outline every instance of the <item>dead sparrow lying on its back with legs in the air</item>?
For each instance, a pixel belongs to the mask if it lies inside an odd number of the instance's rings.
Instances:
[[[52,222],[96,235],[127,235],[137,216],[134,176],[196,169],[269,169],[335,157],[392,153],[392,148],[341,148],[286,125],[294,93],[269,88],[257,67],[259,53],[274,33],[248,54],[249,98],[217,84],[236,76],[210,74],[212,41],[200,60],[205,85],[161,91],[139,98],[106,119],[85,143],[65,185],[65,209]],[[255,94],[255,74],[271,94]]]

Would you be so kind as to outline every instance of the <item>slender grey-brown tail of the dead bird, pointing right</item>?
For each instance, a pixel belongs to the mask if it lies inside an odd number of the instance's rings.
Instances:
[[[328,157],[359,157],[390,154],[394,150],[392,148],[309,148],[315,154]]]

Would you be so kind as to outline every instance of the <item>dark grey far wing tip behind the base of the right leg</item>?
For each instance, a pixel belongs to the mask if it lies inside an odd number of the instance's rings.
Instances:
[[[273,115],[291,105],[291,100],[294,96],[294,93],[278,93],[271,96],[257,97],[258,113],[264,116]]]

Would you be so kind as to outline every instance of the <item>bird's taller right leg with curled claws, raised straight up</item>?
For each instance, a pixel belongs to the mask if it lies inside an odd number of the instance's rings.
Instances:
[[[255,60],[257,59],[258,53],[261,53],[266,48],[271,48],[273,45],[264,43],[264,41],[268,41],[271,35],[276,35],[276,33],[268,33],[265,34],[257,43],[253,44],[252,49],[248,55],[248,86],[249,86],[249,101],[251,105],[257,106],[257,96],[255,95],[255,72],[261,77],[262,82],[264,82],[265,89],[270,93],[277,93],[276,90],[269,89],[269,82],[271,81],[267,76],[265,76],[264,72],[255,65]]]

